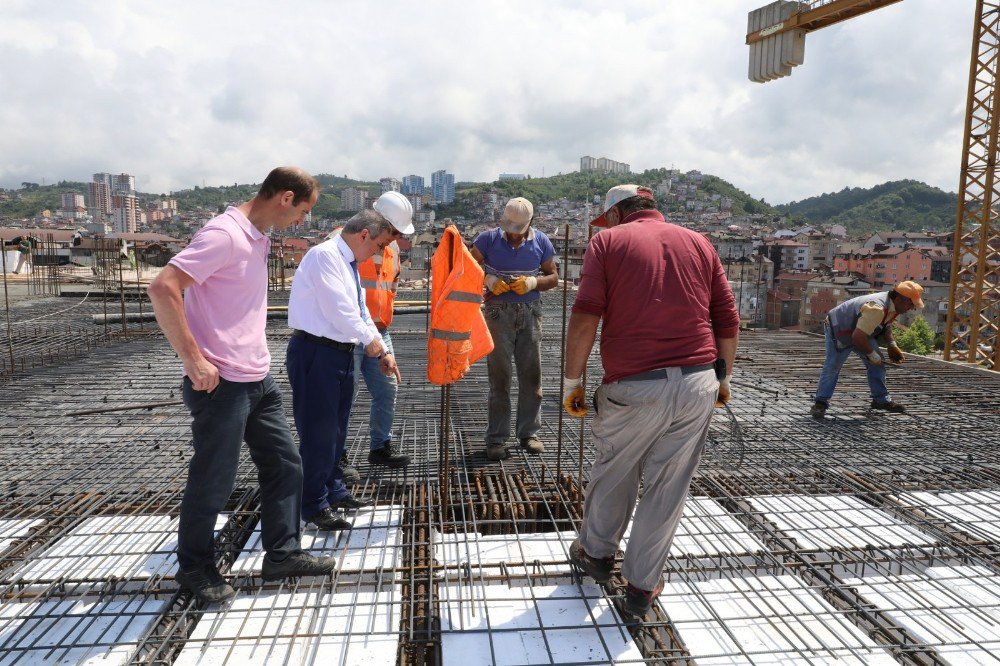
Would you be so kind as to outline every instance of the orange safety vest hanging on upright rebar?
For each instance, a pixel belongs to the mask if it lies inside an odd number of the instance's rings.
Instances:
[[[432,384],[457,382],[493,351],[493,337],[479,309],[484,276],[458,229],[448,225],[431,258],[427,379]]]

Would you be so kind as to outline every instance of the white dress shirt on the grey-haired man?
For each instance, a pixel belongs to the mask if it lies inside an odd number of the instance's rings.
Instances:
[[[324,241],[306,252],[292,280],[288,325],[313,335],[367,346],[382,340],[364,307],[358,302],[354,252],[341,237]]]

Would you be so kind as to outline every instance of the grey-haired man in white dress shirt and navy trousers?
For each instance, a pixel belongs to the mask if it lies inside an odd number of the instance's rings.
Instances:
[[[335,511],[370,504],[351,495],[336,461],[347,442],[355,346],[378,358],[384,374],[396,372],[365,307],[357,266],[398,237],[381,214],[361,211],[340,236],[306,253],[292,283],[288,325],[294,330],[285,364],[302,455],[302,516],[320,529],[349,528]]]

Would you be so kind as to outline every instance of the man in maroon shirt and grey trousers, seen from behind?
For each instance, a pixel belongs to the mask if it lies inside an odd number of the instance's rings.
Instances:
[[[594,394],[597,457],[570,559],[598,582],[610,579],[645,480],[622,563],[625,610],[642,617],[663,590],[713,404],[729,399],[739,315],[715,249],[668,224],[648,188],[611,188],[591,224],[608,229],[583,258],[566,339],[566,411],[587,414],[580,377],[602,319],[604,380]],[[717,359],[727,369],[721,380],[712,372]]]

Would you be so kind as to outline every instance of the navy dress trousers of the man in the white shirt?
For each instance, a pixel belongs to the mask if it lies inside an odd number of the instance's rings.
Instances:
[[[302,454],[302,515],[315,516],[350,494],[344,455],[354,398],[354,355],[292,337],[285,355]]]

